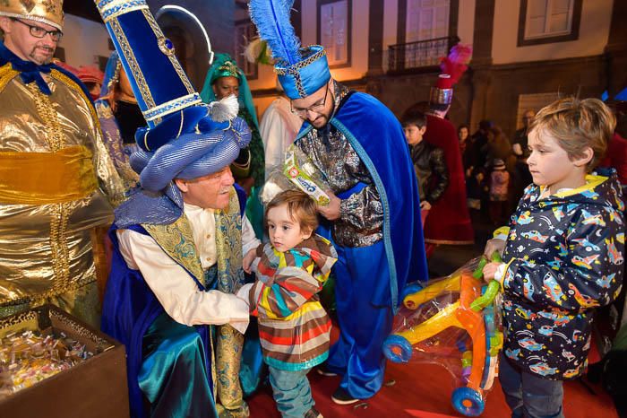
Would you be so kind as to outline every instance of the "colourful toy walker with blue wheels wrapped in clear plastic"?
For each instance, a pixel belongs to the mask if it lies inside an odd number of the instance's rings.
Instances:
[[[391,361],[436,363],[448,370],[457,386],[452,404],[468,416],[483,412],[502,348],[500,284],[484,283],[486,262],[485,257],[470,260],[424,288],[410,284],[383,344]]]

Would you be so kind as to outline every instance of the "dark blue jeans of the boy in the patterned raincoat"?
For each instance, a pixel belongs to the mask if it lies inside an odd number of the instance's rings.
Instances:
[[[537,377],[513,366],[501,353],[499,381],[512,418],[563,418],[563,381]]]

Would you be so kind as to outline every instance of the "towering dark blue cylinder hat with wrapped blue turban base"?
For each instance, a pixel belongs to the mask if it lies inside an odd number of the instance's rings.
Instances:
[[[148,125],[137,130],[141,150],[130,159],[143,191],[116,210],[116,224],[173,222],[183,204],[172,180],[227,167],[250,130],[236,118],[236,100],[202,103],[145,0],[95,1]]]

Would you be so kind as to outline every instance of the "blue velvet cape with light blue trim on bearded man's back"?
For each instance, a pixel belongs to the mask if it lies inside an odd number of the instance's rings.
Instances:
[[[383,244],[391,280],[390,292],[374,290],[385,293],[374,295],[374,300],[389,300],[396,310],[407,283],[428,279],[416,172],[403,129],[381,101],[361,92],[349,93],[329,123],[346,136],[381,196]],[[296,141],[311,129],[305,122]]]

